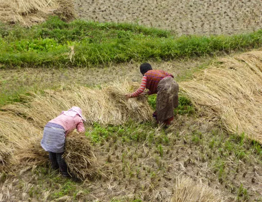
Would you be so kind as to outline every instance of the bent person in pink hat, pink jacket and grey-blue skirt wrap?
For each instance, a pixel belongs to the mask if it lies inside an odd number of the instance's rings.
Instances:
[[[68,111],[62,111],[58,117],[44,126],[41,146],[49,152],[52,169],[60,169],[64,177],[69,176],[67,165],[62,158],[66,135],[75,128],[78,132],[84,132],[83,121],[85,120],[82,117],[82,110],[79,107],[72,107]]]

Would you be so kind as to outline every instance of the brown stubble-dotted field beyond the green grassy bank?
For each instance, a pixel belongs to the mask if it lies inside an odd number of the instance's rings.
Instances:
[[[262,27],[261,0],[75,0],[80,18],[132,22],[177,34],[233,34]]]

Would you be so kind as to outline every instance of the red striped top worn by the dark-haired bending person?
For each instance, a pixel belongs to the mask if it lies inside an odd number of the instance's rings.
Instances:
[[[155,69],[147,71],[142,78],[140,87],[136,90],[136,92],[131,94],[131,97],[137,97],[142,92],[144,92],[145,88],[149,89],[149,95],[157,93],[157,86],[159,81],[167,76],[172,76],[174,78],[172,74],[164,70]]]

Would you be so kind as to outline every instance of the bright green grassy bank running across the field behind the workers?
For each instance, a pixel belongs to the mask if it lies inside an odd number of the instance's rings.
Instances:
[[[262,44],[262,30],[232,36],[177,37],[166,30],[135,24],[84,20],[66,23],[57,17],[31,28],[1,25],[0,36],[1,68],[170,60],[258,48]]]

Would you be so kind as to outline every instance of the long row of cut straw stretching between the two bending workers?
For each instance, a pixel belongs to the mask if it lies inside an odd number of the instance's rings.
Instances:
[[[70,86],[67,90],[46,90],[44,94],[24,96],[25,103],[2,107],[4,110],[33,121],[37,127],[58,116],[62,110],[78,106],[86,118],[86,124],[119,125],[132,119],[135,122],[152,119],[152,109],[146,98],[125,99],[125,94],[135,90],[134,83],[113,83],[99,88]],[[133,87],[132,87],[133,86]]]

